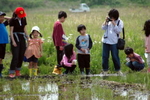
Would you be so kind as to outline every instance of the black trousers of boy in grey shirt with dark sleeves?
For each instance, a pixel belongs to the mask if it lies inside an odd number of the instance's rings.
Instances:
[[[85,69],[90,69],[90,55],[78,54],[78,64],[81,72]]]

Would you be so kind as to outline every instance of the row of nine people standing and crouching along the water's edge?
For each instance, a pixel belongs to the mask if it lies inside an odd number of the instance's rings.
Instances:
[[[60,11],[58,13],[58,20],[54,23],[52,38],[57,52],[57,65],[54,67],[52,73],[62,74],[61,68],[65,68],[63,74],[72,74],[78,66],[82,75],[90,74],[90,50],[93,42],[89,34],[86,33],[86,26],[83,24],[78,25],[77,31],[79,36],[76,38],[75,47],[77,54],[74,51],[73,44],[67,42],[62,23],[65,22],[67,13]],[[6,19],[6,21],[4,21]],[[28,35],[26,31],[26,12],[24,8],[17,7],[12,17],[6,17],[4,12],[0,12],[0,77],[2,77],[2,70],[4,68],[2,60],[5,57],[6,44],[9,43],[8,32],[6,26],[10,26],[10,45],[12,52],[12,60],[10,63],[9,77],[14,78],[21,76],[20,70],[23,60],[29,62],[29,76],[37,76],[38,58],[42,56],[43,41],[40,37],[42,34],[38,26],[33,26],[31,33]],[[124,25],[123,21],[119,18],[119,11],[111,9],[108,12],[102,30],[104,35],[102,37],[102,74],[108,74],[109,70],[109,56],[111,52],[112,61],[117,74],[122,75],[121,64],[119,58],[119,50],[117,49],[117,42],[119,34],[122,32]],[[148,54],[147,63],[150,67],[150,20],[144,24],[145,31],[145,52]],[[26,42],[28,44],[26,44]],[[144,68],[144,60],[142,57],[135,53],[130,47],[124,49],[127,55],[126,65],[133,71],[140,71]],[[150,68],[148,68],[150,72]]]

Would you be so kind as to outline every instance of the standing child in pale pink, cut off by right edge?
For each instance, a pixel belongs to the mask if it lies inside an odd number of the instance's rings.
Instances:
[[[147,20],[144,24],[145,31],[145,52],[147,56],[148,72],[150,72],[150,20]]]

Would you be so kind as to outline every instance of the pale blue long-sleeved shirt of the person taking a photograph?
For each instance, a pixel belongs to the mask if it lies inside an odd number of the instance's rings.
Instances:
[[[119,22],[120,20],[120,22]],[[119,25],[117,25],[119,22]],[[111,21],[107,25],[102,25],[102,30],[105,30],[102,42],[106,44],[117,44],[118,35],[122,32],[123,21],[118,19],[115,21],[116,25],[113,25]]]

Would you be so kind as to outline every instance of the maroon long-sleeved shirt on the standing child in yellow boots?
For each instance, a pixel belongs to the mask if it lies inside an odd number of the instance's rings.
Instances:
[[[54,23],[53,35],[52,35],[55,46],[64,46],[65,45],[65,43],[63,42],[63,38],[62,38],[63,34],[65,35],[61,22],[56,21]]]

